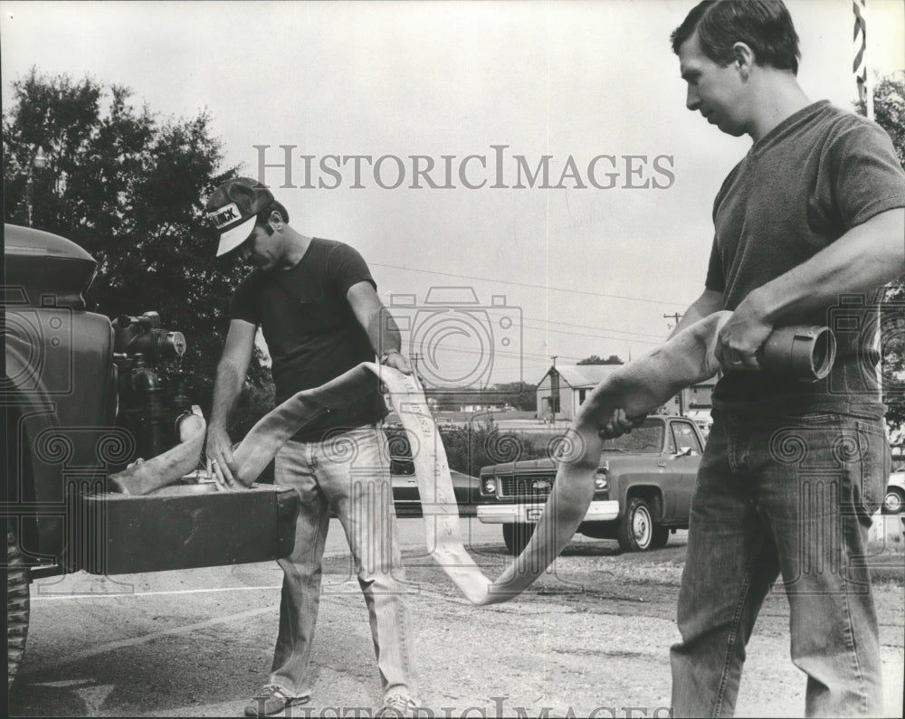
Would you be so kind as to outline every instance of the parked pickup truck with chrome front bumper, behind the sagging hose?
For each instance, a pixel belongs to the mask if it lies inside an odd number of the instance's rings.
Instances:
[[[481,468],[478,519],[499,524],[510,553],[519,554],[553,487],[556,437],[526,433],[528,447],[550,448],[546,457]],[[653,415],[615,440],[606,440],[595,493],[578,532],[616,539],[624,552],[664,546],[676,529],[688,528],[691,490],[704,442],[684,417]]]

